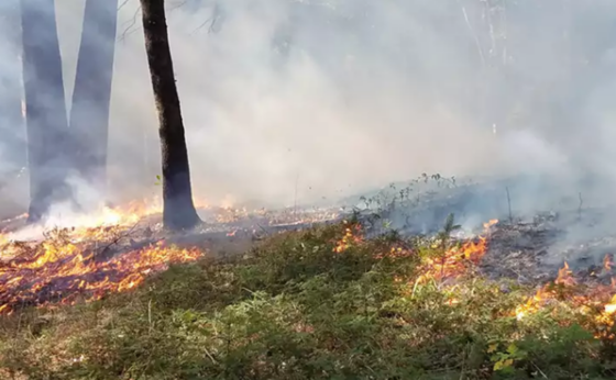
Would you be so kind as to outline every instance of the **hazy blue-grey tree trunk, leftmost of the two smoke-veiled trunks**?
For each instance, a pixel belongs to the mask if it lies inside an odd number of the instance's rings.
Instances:
[[[21,0],[23,82],[30,168],[29,221],[69,199],[68,122],[54,0]]]

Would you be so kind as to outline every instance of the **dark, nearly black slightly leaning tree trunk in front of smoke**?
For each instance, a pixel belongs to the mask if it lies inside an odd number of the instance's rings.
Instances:
[[[163,222],[167,228],[191,228],[200,223],[190,189],[188,150],[175,85],[164,0],[141,0],[145,51],[158,111],[163,158]]]

